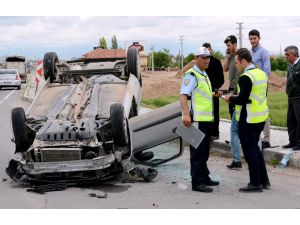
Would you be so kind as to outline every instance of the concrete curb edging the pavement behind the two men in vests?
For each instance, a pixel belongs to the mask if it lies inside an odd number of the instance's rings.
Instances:
[[[211,143],[211,151],[218,152],[222,156],[225,157],[231,157],[231,148],[230,144],[215,140]],[[287,153],[289,149],[283,149],[281,147],[276,147],[276,148],[266,148],[264,149],[264,158],[265,161],[268,162],[270,160],[277,160],[278,162],[281,161],[282,157],[284,156],[285,153]],[[241,157],[244,157],[243,153],[241,152]],[[300,152],[293,152],[290,160],[289,160],[289,166],[294,167],[294,168],[299,168],[300,169]]]

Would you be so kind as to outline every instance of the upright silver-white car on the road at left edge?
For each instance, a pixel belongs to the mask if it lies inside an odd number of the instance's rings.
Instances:
[[[21,78],[16,69],[0,70],[0,89],[3,87],[17,87],[21,89]]]

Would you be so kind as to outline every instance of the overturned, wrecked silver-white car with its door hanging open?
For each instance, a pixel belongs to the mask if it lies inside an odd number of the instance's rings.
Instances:
[[[179,103],[138,115],[137,49],[129,48],[127,58],[65,63],[49,52],[44,76],[46,85],[28,111],[12,110],[16,151],[6,169],[12,179],[90,181],[131,171],[151,180],[155,170],[136,170],[134,164],[156,166],[182,154],[175,133]]]

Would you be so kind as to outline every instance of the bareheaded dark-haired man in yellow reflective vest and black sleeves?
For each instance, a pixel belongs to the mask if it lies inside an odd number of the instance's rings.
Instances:
[[[240,188],[240,192],[262,192],[270,188],[263,153],[258,140],[269,116],[267,106],[268,76],[261,69],[255,68],[248,49],[241,48],[235,56],[235,64],[243,74],[239,78],[237,95],[226,96],[228,103],[236,104],[236,120],[244,157],[248,163],[250,183]]]

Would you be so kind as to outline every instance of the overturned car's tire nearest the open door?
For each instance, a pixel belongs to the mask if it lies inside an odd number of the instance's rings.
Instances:
[[[124,147],[128,144],[127,120],[124,107],[121,103],[115,103],[110,107],[110,120],[112,137],[117,146]]]

